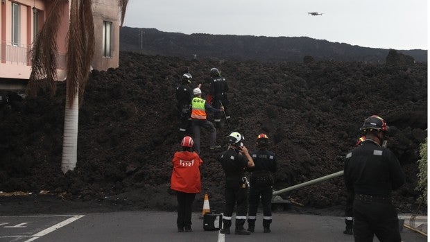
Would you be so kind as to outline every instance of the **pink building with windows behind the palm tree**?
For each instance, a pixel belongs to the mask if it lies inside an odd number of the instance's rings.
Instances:
[[[0,0],[0,90],[23,89],[31,74],[31,47],[49,15],[51,0]],[[121,13],[117,0],[93,0],[96,51],[92,67],[116,68],[119,63],[119,25]],[[65,79],[67,31],[70,1],[58,33],[58,80]]]

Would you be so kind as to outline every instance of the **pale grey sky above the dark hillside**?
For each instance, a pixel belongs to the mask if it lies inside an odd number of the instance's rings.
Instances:
[[[123,26],[427,50],[428,10],[427,0],[130,0]]]

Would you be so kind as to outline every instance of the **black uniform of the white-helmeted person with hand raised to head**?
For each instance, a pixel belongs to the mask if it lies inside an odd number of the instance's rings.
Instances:
[[[243,230],[247,212],[247,186],[242,180],[248,159],[238,151],[228,149],[218,158],[225,172],[225,210],[223,214],[224,228],[232,225],[234,205],[236,205],[236,231]]]

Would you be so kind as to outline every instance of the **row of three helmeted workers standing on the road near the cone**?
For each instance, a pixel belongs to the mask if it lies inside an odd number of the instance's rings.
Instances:
[[[270,209],[273,192],[273,177],[277,169],[275,153],[268,148],[268,136],[257,136],[257,150],[248,152],[243,145],[244,137],[239,132],[232,132],[227,136],[228,148],[218,157],[225,173],[225,210],[223,213],[223,227],[221,233],[230,234],[232,216],[236,206],[236,221],[234,234],[248,235],[255,232],[257,208],[263,205],[264,232],[271,232],[272,213]],[[182,151],[173,155],[173,172],[171,175],[171,189],[176,191],[178,199],[178,232],[191,232],[191,207],[196,193],[200,193],[200,165],[203,163],[198,153],[193,152],[195,143],[186,136],[182,139]],[[250,182],[246,178],[246,171],[251,172]],[[249,200],[248,200],[249,191]],[[249,204],[249,210],[248,210]],[[247,217],[248,214],[248,217]],[[244,225],[248,218],[248,230]]]

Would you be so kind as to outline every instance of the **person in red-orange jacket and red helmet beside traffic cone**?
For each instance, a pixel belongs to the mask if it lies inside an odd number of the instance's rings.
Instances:
[[[178,199],[178,232],[191,232],[191,207],[196,193],[200,193],[202,184],[200,181],[200,165],[202,159],[193,152],[194,141],[186,136],[181,141],[182,151],[173,155],[173,172],[171,176],[171,189],[176,191]]]

